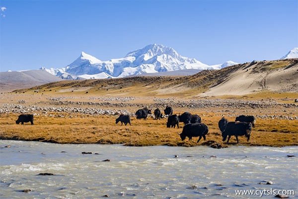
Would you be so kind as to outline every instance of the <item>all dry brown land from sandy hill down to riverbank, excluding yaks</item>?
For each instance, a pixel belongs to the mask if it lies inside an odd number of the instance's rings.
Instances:
[[[60,81],[32,88],[24,83],[13,92],[3,92],[11,89],[3,86],[0,139],[130,146],[217,142],[226,147],[237,143],[234,136],[230,143],[222,142],[218,121],[223,116],[234,121],[244,114],[254,115],[256,126],[250,141],[240,137],[237,145],[297,146],[297,71],[298,60],[286,59],[238,64],[191,76]],[[188,111],[200,115],[209,127],[207,141],[181,141],[182,123],[179,129],[166,128],[166,118],[155,120],[150,115],[137,120],[134,115],[144,106],[153,111],[166,105],[173,107],[174,114]],[[34,114],[34,125],[15,124],[21,113]],[[131,126],[115,124],[120,113],[130,114]]]

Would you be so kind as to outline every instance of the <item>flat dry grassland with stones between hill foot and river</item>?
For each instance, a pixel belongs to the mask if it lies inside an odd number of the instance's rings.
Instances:
[[[121,100],[126,99],[125,97],[94,96],[93,94],[74,94],[72,92],[59,94],[52,91],[45,95],[42,93],[2,94],[0,98],[0,103],[3,104],[0,113],[0,139],[61,144],[187,147],[209,144],[213,140],[223,147],[229,145],[297,146],[297,106],[286,107],[287,104],[292,104],[296,94],[271,94],[270,97],[268,95],[269,93],[260,93],[246,96],[223,96],[222,99],[215,99],[215,101],[224,100],[224,102],[225,100],[232,100],[231,105],[227,108],[226,105],[221,107],[221,104],[216,107],[212,107],[210,104],[203,104],[202,107],[192,107],[192,104],[196,105],[196,99],[180,99],[178,96],[170,99],[133,97],[123,102]],[[163,102],[156,102],[160,100]],[[249,104],[262,100],[268,102],[266,107],[241,106],[237,108],[237,104],[235,104],[235,101],[247,101]],[[175,106],[181,101],[183,101],[182,105]],[[280,102],[276,105],[275,103],[271,104],[271,101]],[[165,104],[173,107],[174,114],[184,111],[199,114],[202,117],[202,122],[209,127],[206,141],[202,139],[199,143],[196,143],[198,138],[193,138],[192,141],[188,141],[188,138],[186,138],[186,140],[181,141],[178,133],[182,132],[183,123],[180,123],[179,129],[166,128],[167,118],[155,120],[154,116],[150,115],[146,120],[138,120],[134,116],[135,111],[144,105],[152,108],[152,110],[157,107],[163,110]],[[186,107],[184,104],[190,106]],[[268,104],[271,104],[271,106],[268,107]],[[73,110],[72,108],[81,108],[81,110],[70,111]],[[117,111],[118,113],[128,111],[131,113],[132,125],[125,126],[123,124],[121,126],[121,123],[115,124],[118,115],[83,112],[98,109],[110,110],[111,112]],[[35,115],[34,125],[30,125],[30,122],[24,125],[16,124],[15,120],[21,112],[33,113]],[[247,142],[243,136],[239,137],[239,144],[237,144],[235,137],[232,136],[229,143],[223,142],[218,128],[218,121],[223,116],[229,121],[233,121],[235,116],[239,114],[254,115],[256,117],[256,126],[251,132],[250,141]]]

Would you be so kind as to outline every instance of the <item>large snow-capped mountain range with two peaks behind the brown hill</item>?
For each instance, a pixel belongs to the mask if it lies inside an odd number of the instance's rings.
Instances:
[[[129,52],[124,58],[101,61],[84,52],[70,65],[62,69],[44,69],[56,76],[83,79],[121,78],[144,73],[159,73],[185,69],[221,69],[238,63],[208,66],[196,59],[179,55],[173,48],[151,44]]]

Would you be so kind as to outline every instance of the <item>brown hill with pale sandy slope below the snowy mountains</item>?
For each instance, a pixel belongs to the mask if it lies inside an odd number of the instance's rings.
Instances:
[[[26,92],[81,92],[114,96],[220,96],[298,93],[298,60],[253,61],[191,76],[127,77],[54,82]]]

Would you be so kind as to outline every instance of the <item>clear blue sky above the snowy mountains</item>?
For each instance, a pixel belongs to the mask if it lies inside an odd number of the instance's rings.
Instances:
[[[1,0],[0,71],[107,61],[149,44],[213,65],[298,47],[298,0]]]

